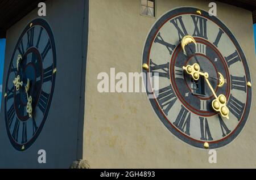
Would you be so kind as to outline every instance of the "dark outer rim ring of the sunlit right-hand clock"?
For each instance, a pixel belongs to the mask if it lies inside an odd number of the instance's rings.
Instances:
[[[172,19],[172,18],[174,18],[175,16],[178,16],[178,15],[183,15],[183,14],[198,15],[196,13],[197,10],[199,10],[199,8],[180,7],[180,8],[176,8],[174,10],[171,10],[171,11],[167,12],[159,20],[157,20],[156,23],[154,24],[154,26],[151,28],[151,31],[148,33],[147,40],[146,40],[146,43],[144,45],[142,63],[146,63],[148,65],[148,62],[149,62],[148,60],[149,60],[149,55],[150,55],[152,42],[154,41],[154,39],[156,37],[156,33],[158,33],[159,29],[163,26],[163,24],[165,24],[168,20],[170,20],[170,19]],[[200,11],[201,11],[200,16],[204,16],[205,18],[207,18],[209,20],[212,20],[212,22],[216,23],[229,36],[230,40],[233,41],[233,44],[236,46],[238,54],[241,57],[243,67],[245,68],[246,82],[251,82],[249,66],[247,64],[245,54],[243,53],[243,50],[242,50],[241,46],[239,45],[236,37],[234,37],[233,33],[229,30],[229,28],[226,27],[226,25],[224,23],[222,23],[221,20],[216,18],[216,16],[210,16],[207,11],[203,11],[203,10],[200,10]],[[148,70],[142,69],[142,71],[144,72],[144,74],[146,74],[146,76],[144,78],[144,86],[147,87],[147,79],[149,78],[148,74],[147,74]],[[146,92],[147,92],[148,96],[151,95],[151,93],[148,91],[147,88],[146,88]],[[237,135],[240,134],[243,127],[245,126],[245,123],[246,123],[247,118],[248,118],[249,113],[250,113],[251,93],[252,93],[252,89],[247,88],[247,100],[246,100],[245,110],[243,112],[242,118],[240,119],[240,122],[238,123],[237,127],[232,132],[230,132],[230,134],[227,135],[225,138],[217,140],[217,141],[213,141],[213,142],[208,142],[209,143],[209,149],[215,149],[215,148],[223,147],[224,145],[229,144],[230,142],[232,142],[232,140],[234,140],[237,137]],[[154,109],[155,113],[158,115],[158,117],[160,118],[160,120],[162,121],[164,126],[166,126],[168,128],[168,130],[172,132],[172,134],[174,134],[180,140],[183,140],[184,142],[186,142],[190,145],[193,145],[194,147],[204,148],[204,142],[203,141],[193,139],[193,138],[183,134],[179,130],[176,130],[176,128],[162,114],[162,110],[160,110],[160,108],[158,107],[158,102],[156,101],[155,98],[149,98],[149,100],[150,100],[150,103],[151,103],[152,108]]]

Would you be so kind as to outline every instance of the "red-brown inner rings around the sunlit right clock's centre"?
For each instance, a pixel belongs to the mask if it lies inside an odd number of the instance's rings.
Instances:
[[[209,41],[207,40],[204,40],[203,38],[198,38],[198,37],[195,37],[195,40],[197,43],[201,43],[201,44],[204,44],[204,45],[207,45],[209,46],[212,50],[214,50],[214,52],[216,52],[216,54],[218,55],[218,59],[221,60],[222,62],[222,65],[224,66],[224,69],[225,69],[225,76],[226,76],[226,83],[227,83],[227,86],[226,86],[226,90],[225,90],[225,96],[226,96],[226,99],[228,101],[229,99],[229,96],[230,96],[230,75],[229,75],[229,71],[228,71],[228,66],[226,65],[226,62],[224,60],[224,58],[222,57],[221,53],[218,51],[218,49],[215,48],[214,45],[210,44]],[[189,109],[191,112],[197,114],[197,115],[200,115],[202,117],[210,117],[210,116],[213,116],[213,115],[216,115],[218,114],[217,112],[214,112],[214,110],[212,110],[211,112],[209,111],[203,111],[203,110],[200,110],[200,109],[196,109],[194,108],[193,106],[191,106],[185,99],[184,97],[181,95],[181,93],[179,92],[178,88],[177,88],[177,84],[175,82],[175,62],[176,61],[179,61],[179,59],[177,59],[177,55],[182,51],[181,49],[181,46],[177,46],[174,50],[174,53],[172,54],[172,57],[171,57],[171,63],[170,63],[170,79],[171,79],[171,84],[172,84],[172,87],[174,88],[174,91],[177,95],[177,97],[179,98],[179,100],[181,101],[181,103],[187,108]],[[203,54],[195,54],[195,55],[201,55],[203,56],[204,58],[208,59],[210,63],[212,63],[213,67],[214,67],[214,71],[216,71],[216,78],[219,78],[219,75],[218,75],[218,71],[217,71],[217,67],[216,65],[214,65],[214,63],[205,55]],[[192,58],[193,56],[191,57],[188,57],[187,58],[187,61],[185,62],[184,66],[187,66],[188,65],[188,62],[190,61],[190,59]],[[184,80],[184,84],[186,84],[186,87],[189,89],[189,91],[191,92],[191,88],[189,87],[189,85],[187,84],[187,81]],[[206,84],[207,85],[207,84]],[[214,87],[213,87],[214,88]],[[216,87],[214,88],[215,92],[217,93],[218,92],[218,86],[216,85]],[[201,97],[201,96],[196,96],[196,95],[193,95],[195,96],[196,98],[199,98],[201,100],[214,100],[214,95],[212,94],[210,97],[207,97],[207,98],[204,98],[204,97]],[[218,95],[217,95],[218,96]]]

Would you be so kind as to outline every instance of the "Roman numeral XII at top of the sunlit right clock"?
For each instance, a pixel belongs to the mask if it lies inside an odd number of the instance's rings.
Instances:
[[[193,36],[208,39],[208,37],[207,37],[207,19],[205,19],[201,16],[196,16],[196,15],[191,15],[191,18],[193,19],[193,23],[195,25],[195,30],[194,30]]]

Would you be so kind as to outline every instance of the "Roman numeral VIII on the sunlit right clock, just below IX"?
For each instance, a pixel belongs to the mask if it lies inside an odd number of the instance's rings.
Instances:
[[[157,100],[163,112],[168,115],[170,109],[177,100],[174,89],[172,89],[171,85],[159,89]]]

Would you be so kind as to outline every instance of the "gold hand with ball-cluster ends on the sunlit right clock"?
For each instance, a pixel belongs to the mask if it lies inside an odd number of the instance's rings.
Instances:
[[[200,72],[200,66],[197,63],[193,64],[192,66],[183,66],[183,70],[185,70],[187,74],[191,75],[194,80],[199,80],[200,75],[204,76],[205,81],[207,82],[210,90],[215,97],[215,100],[212,101],[212,108],[216,112],[220,112],[222,117],[229,119],[229,109],[226,106],[226,97],[224,95],[216,95],[212,85],[208,80],[209,74],[207,72]]]

